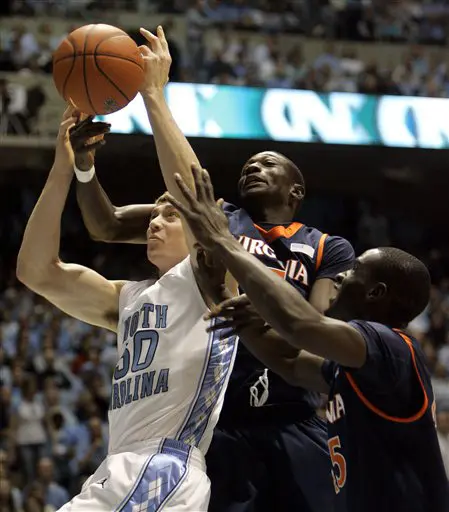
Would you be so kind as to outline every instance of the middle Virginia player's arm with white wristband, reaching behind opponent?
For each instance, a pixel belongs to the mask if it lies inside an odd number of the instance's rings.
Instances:
[[[95,173],[95,149],[90,148],[95,122],[88,117],[70,134],[77,168],[76,197],[90,236],[100,242],[145,244],[152,204],[114,206]],[[105,143],[102,139],[101,144]]]

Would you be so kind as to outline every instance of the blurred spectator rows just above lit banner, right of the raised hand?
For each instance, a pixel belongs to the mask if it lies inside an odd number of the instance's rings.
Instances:
[[[197,55],[194,51],[189,55]],[[365,62],[354,49],[338,51],[326,44],[312,61],[303,56],[300,44],[285,51],[279,36],[267,36],[258,44],[225,32],[208,46],[199,81],[223,85],[248,85],[313,90],[318,92],[359,92],[408,96],[449,97],[447,64],[429,57],[422,46],[412,46],[402,63],[383,67]]]

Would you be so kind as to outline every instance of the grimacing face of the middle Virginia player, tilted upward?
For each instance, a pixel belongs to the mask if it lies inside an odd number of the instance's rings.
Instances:
[[[243,200],[289,197],[294,185],[285,157],[274,151],[252,156],[243,166],[238,190]]]

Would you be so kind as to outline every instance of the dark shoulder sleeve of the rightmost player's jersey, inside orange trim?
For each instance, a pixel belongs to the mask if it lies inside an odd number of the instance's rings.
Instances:
[[[352,321],[366,343],[366,362],[346,368],[359,392],[391,416],[414,414],[423,403],[423,388],[409,345],[392,329],[375,322]]]

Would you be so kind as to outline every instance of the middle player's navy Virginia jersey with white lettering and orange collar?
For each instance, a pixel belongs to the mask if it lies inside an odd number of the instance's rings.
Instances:
[[[231,233],[243,247],[294,286],[306,299],[318,279],[333,279],[352,267],[354,250],[344,238],[328,236],[299,222],[285,225],[255,224],[245,212],[225,203]],[[220,422],[233,425],[286,416],[301,419],[317,408],[319,395],[292,387],[269,372],[269,397],[264,407],[250,406],[250,388],[264,366],[240,344],[234,371],[225,396]],[[261,389],[262,390],[262,389]]]

